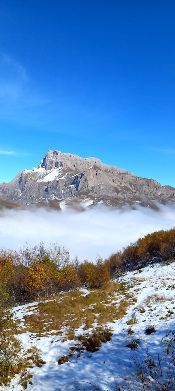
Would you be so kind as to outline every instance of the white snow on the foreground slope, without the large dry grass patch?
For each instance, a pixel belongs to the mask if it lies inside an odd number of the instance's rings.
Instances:
[[[141,269],[141,271],[127,272],[117,279],[117,282],[128,283],[128,290],[123,293],[126,297],[133,296],[135,302],[129,305],[127,313],[121,319],[107,325],[112,328],[112,339],[107,343],[101,343],[95,353],[84,352],[73,354],[70,361],[58,365],[59,357],[69,355],[70,347],[77,341],[65,340],[64,328],[62,334],[36,337],[34,332],[24,332],[17,337],[21,340],[24,351],[36,346],[40,350],[41,357],[46,364],[41,368],[28,369],[32,375],[32,383],[28,384],[29,391],[68,391],[68,390],[100,390],[112,391],[117,385],[123,384],[124,389],[136,372],[135,362],[142,363],[147,357],[147,352],[158,362],[162,357],[163,342],[169,330],[175,329],[175,263],[169,265],[154,264]],[[88,295],[87,289],[81,289],[82,295]],[[115,293],[115,292],[114,292]],[[116,307],[118,294],[116,293]],[[76,300],[76,299],[75,299]],[[25,330],[24,316],[37,312],[37,303],[16,307],[15,316],[20,320],[20,326]],[[128,335],[128,321],[132,323],[132,335]],[[156,332],[145,334],[149,325],[156,327]],[[95,326],[95,325],[94,325]],[[53,330],[54,331],[54,330]],[[83,333],[80,326],[75,335]],[[52,332],[50,332],[52,334]],[[138,348],[133,350],[126,344],[137,341]],[[134,358],[133,358],[134,357]],[[166,372],[166,364],[162,364],[162,370]],[[20,375],[16,375],[7,387],[1,387],[2,391],[21,391]],[[137,387],[129,389],[137,390]]]

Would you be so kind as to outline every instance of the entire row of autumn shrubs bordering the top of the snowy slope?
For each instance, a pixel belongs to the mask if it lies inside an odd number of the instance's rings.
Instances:
[[[26,245],[19,251],[2,248],[0,307],[9,300],[13,304],[40,300],[82,284],[100,288],[126,269],[174,258],[175,228],[145,235],[105,260],[98,255],[95,263],[79,262],[77,256],[71,261],[68,250],[57,243],[49,247],[43,243],[32,248]]]

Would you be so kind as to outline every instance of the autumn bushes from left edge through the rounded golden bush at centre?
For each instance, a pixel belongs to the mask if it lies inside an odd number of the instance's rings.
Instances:
[[[75,289],[81,284],[100,288],[110,280],[108,263],[99,256],[96,263],[76,257],[70,261],[69,252],[58,244],[44,248],[27,245],[20,251],[0,251],[0,305],[41,300],[60,291]]]

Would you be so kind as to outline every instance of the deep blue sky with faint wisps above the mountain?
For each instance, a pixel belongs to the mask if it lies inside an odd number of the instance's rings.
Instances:
[[[174,17],[174,0],[1,0],[0,182],[58,149],[175,187]]]

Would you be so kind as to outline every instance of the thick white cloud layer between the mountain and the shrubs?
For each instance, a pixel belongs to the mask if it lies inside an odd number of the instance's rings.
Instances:
[[[30,246],[58,242],[73,258],[103,258],[138,237],[175,226],[175,204],[159,205],[158,210],[136,206],[135,210],[116,210],[104,205],[85,212],[55,211],[34,207],[32,210],[3,210],[0,213],[0,247],[18,250]]]

